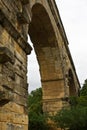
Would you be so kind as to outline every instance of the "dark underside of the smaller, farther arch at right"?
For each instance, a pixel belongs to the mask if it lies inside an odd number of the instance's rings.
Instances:
[[[68,77],[69,77],[68,78],[69,96],[76,96],[77,92],[76,92],[74,77],[71,69],[69,69],[68,71]]]

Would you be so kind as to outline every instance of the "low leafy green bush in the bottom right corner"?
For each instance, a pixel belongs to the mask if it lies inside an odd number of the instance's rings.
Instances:
[[[87,130],[87,108],[62,109],[54,118],[57,127],[69,130]]]

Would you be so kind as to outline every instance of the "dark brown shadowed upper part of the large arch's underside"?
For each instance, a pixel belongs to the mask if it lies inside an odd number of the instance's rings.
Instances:
[[[32,7],[32,21],[29,25],[31,40],[40,46],[54,46],[55,32],[49,14],[43,5],[36,3]]]

